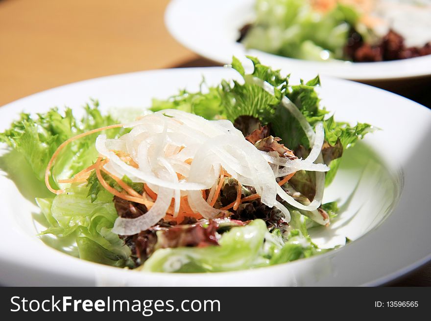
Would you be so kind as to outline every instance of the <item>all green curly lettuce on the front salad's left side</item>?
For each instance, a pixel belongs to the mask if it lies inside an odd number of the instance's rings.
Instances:
[[[97,101],[86,104],[84,111],[85,115],[80,119],[73,116],[70,108],[66,108],[64,114],[59,113],[58,108],[51,108],[34,118],[22,113],[18,121],[0,133],[0,142],[14,150],[8,161],[13,162],[15,157],[16,162],[19,162],[24,156],[34,176],[42,181],[48,161],[61,143],[91,129],[118,123],[112,116],[102,115]],[[110,137],[123,133],[125,131],[122,128],[106,132]],[[98,155],[96,137],[97,133],[72,141],[61,152],[52,172],[53,184],[58,179],[72,177],[94,162]],[[65,187],[58,183],[56,185]],[[132,185],[138,188],[138,185]],[[91,189],[92,186],[72,186],[55,197],[36,198],[48,225],[41,235],[54,235],[59,240],[73,237],[77,251],[71,252],[78,253],[83,259],[114,266],[132,266],[130,248],[117,234],[111,232],[118,217],[112,202],[113,195],[100,188],[96,193]],[[38,194],[39,191],[34,191],[34,195]]]

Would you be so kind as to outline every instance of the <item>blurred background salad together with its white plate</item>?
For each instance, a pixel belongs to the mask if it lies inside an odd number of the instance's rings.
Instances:
[[[430,0],[172,0],[165,21],[221,64],[251,55],[285,73],[363,82],[431,75]]]

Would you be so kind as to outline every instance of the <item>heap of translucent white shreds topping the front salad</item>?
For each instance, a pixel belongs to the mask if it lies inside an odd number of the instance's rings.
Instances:
[[[253,186],[263,204],[280,209],[286,221],[290,220],[290,213],[276,201],[277,194],[300,210],[313,211],[320,206],[324,171],[329,170],[324,164],[314,163],[316,159],[321,162],[322,124],[317,124],[316,134],[311,129],[312,149],[305,160],[289,160],[274,152],[260,151],[231,122],[208,121],[181,110],[145,115],[125,127],[132,129],[119,139],[99,135],[96,149],[110,160],[104,165],[107,170],[119,177],[127,175],[135,182],[144,182],[157,193],[157,200],[148,213],[138,218],[118,218],[113,229],[117,234],[133,235],[156,224],[166,215],[172,198],[176,217],[182,196],[187,196],[194,213],[205,218],[218,217],[221,211],[210,203],[222,171],[241,185]],[[138,168],[124,162],[118,151],[130,155]],[[316,171],[316,197],[310,204],[295,201],[276,181],[277,177],[299,170]],[[207,189],[210,189],[208,201],[202,194]]]

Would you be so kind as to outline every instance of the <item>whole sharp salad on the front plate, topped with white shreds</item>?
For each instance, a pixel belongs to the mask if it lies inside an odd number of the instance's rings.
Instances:
[[[241,81],[202,82],[153,100],[120,124],[97,101],[77,119],[52,108],[0,134],[49,197],[36,202],[70,255],[154,272],[220,272],[317,255],[309,229],[343,151],[373,128],[336,122],[320,107],[319,77],[291,85],[253,57]],[[45,236],[46,237],[46,236]]]

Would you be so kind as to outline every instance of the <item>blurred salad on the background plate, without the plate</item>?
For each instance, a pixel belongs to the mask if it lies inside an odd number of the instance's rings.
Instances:
[[[255,11],[240,30],[247,48],[316,61],[431,54],[430,0],[257,0]]]

